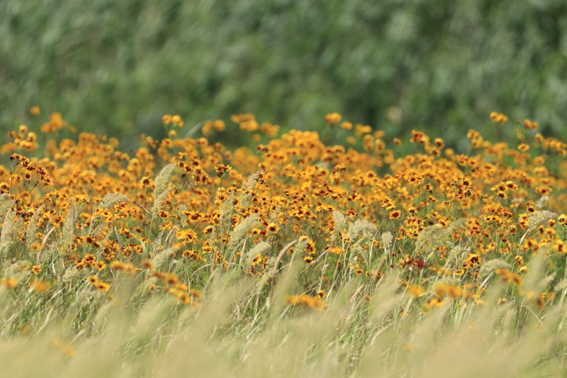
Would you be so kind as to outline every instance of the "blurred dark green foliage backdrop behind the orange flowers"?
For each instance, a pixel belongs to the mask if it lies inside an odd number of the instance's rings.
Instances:
[[[490,111],[561,135],[566,79],[564,0],[0,1],[1,138],[60,111],[128,145],[177,113],[225,120],[215,138],[237,145],[233,113],[285,131],[336,111],[460,149],[469,128],[512,135]]]

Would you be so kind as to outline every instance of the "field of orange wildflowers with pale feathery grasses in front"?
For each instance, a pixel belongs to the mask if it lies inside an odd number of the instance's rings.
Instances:
[[[0,146],[3,375],[565,376],[567,145],[537,122],[457,153],[164,116],[125,151],[32,113]]]

